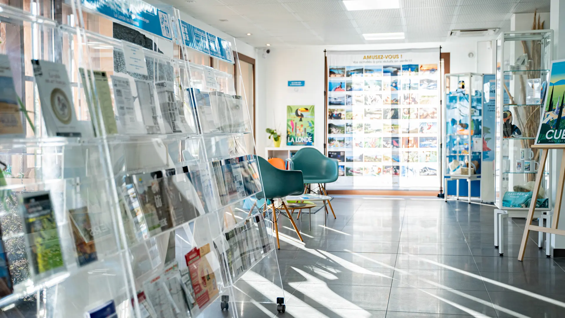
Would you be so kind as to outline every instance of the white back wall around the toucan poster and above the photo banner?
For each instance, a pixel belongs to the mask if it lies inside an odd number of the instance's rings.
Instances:
[[[324,49],[327,50],[392,50],[408,48],[439,48],[450,52],[450,72],[476,72],[477,42],[410,43],[390,45],[338,45],[301,46],[274,48],[267,58],[259,54],[257,59],[257,153],[264,154],[265,147],[272,147],[265,128],[279,128],[282,145],[286,141],[286,106],[314,105],[314,146],[323,151],[324,145]],[[475,53],[474,58],[467,54]],[[289,91],[289,80],[306,81],[303,93]]]

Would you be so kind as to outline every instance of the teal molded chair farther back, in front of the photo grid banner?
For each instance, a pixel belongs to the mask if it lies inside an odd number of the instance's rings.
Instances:
[[[328,192],[325,191],[324,183],[337,181],[337,159],[324,156],[316,148],[302,148],[297,151],[294,156],[289,159],[289,161],[290,169],[301,170],[305,184],[318,183],[320,192],[323,195],[328,195]],[[306,192],[306,187],[304,191]],[[333,212],[332,203],[329,200],[327,202],[329,208],[332,210],[333,218],[336,218],[336,213]]]

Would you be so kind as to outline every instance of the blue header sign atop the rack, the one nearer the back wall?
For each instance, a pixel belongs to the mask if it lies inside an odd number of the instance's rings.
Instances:
[[[233,63],[232,45],[223,38],[194,27],[185,21],[179,20],[182,41],[189,48],[199,52]]]

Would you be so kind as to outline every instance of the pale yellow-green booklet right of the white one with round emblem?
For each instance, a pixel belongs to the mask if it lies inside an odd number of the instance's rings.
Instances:
[[[114,115],[114,108],[112,108],[112,97],[110,94],[110,84],[108,84],[108,76],[103,71],[86,71],[84,68],[79,68],[80,76],[82,79],[82,87],[86,94],[86,104],[90,111],[90,118],[97,118],[98,131],[102,131],[102,122],[107,135],[118,134],[118,126],[116,125],[116,117]],[[85,73],[88,73],[86,76]],[[92,75],[94,74],[94,83]],[[86,87],[86,78],[88,77],[89,87]],[[93,92],[93,94],[90,94]],[[102,118],[99,118],[102,114]],[[94,126],[94,119],[93,126]]]

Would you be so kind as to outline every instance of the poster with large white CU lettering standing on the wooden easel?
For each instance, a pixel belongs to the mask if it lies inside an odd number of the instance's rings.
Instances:
[[[551,63],[549,89],[536,144],[565,144],[565,59]]]

